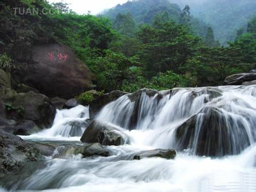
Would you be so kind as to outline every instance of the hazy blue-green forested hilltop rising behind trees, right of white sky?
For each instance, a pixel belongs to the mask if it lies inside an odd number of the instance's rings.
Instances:
[[[189,6],[183,6],[183,10],[177,4],[169,3],[168,0],[140,0],[128,1],[124,4],[118,4],[115,8],[107,10],[102,14],[114,22],[114,27],[117,31],[115,23],[119,23],[123,18],[133,20],[133,25],[140,26],[141,24],[153,24],[156,20],[165,19],[173,20],[177,23],[186,25],[191,29],[191,32],[205,38],[207,33],[207,24],[202,20],[192,17]],[[129,33],[133,34],[135,28],[129,28]],[[133,31],[131,30],[133,29]],[[124,31],[124,30],[123,30]],[[132,33],[133,32],[133,33]]]

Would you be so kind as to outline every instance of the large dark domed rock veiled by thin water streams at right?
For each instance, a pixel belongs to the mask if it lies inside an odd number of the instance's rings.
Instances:
[[[221,157],[239,154],[250,146],[241,119],[223,114],[221,109],[203,108],[191,116],[175,132],[178,150],[191,148],[199,156]]]

